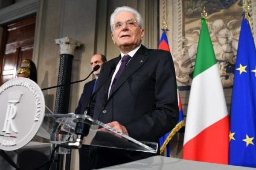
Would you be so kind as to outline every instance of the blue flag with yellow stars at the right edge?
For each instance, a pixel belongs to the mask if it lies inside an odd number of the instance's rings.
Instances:
[[[256,49],[243,14],[230,113],[229,164],[256,167]]]

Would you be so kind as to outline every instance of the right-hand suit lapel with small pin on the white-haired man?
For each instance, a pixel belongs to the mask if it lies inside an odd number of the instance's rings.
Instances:
[[[131,60],[126,65],[124,71],[122,72],[119,79],[116,81],[116,84],[113,89],[113,93],[111,96],[109,96],[108,99],[111,99],[113,94],[116,92],[117,89],[120,88],[120,86],[125,82],[125,80],[131,76],[137,69],[139,69],[148,59],[148,51],[147,48],[145,48],[143,45],[140,47],[140,49],[134,54],[134,56],[131,58]]]

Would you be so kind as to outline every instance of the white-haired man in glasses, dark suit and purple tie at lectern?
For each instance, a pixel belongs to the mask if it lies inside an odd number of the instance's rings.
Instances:
[[[123,6],[111,15],[112,40],[120,55],[102,65],[91,105],[93,118],[140,141],[158,142],[178,121],[177,85],[172,56],[141,45],[143,20]],[[153,156],[151,153],[98,147],[90,151],[101,168]]]

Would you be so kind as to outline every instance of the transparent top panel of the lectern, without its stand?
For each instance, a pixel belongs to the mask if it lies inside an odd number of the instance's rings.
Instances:
[[[87,115],[46,113],[45,116],[45,119],[54,119],[49,138],[52,144],[75,141],[76,125],[83,122],[88,134],[84,136],[82,144],[157,153],[157,143],[137,141]]]

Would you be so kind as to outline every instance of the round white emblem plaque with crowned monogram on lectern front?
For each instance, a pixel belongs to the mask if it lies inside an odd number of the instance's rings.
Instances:
[[[32,140],[44,120],[44,95],[31,79],[11,79],[0,87],[0,108],[0,149],[17,150]]]

